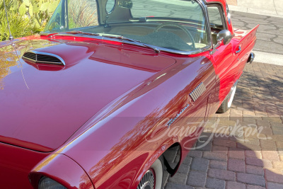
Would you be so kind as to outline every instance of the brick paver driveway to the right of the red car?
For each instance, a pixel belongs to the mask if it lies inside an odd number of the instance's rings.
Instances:
[[[196,147],[207,144],[165,188],[283,188],[282,96],[283,67],[247,64],[231,110],[209,119]]]

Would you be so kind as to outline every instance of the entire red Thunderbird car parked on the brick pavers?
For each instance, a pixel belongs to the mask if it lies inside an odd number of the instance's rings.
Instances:
[[[0,188],[163,188],[230,108],[257,28],[224,0],[60,1],[0,42]]]

